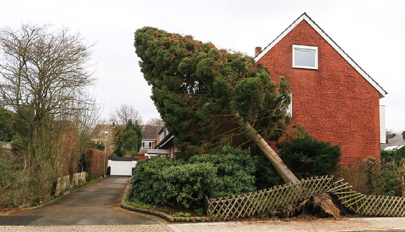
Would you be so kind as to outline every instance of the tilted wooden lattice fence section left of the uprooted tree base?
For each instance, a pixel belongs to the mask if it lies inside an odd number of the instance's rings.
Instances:
[[[316,196],[333,187],[332,177],[315,177],[239,196],[207,199],[208,215],[217,219],[241,218],[275,211],[278,207]]]

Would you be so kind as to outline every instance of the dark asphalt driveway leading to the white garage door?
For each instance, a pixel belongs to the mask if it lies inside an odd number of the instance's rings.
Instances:
[[[1,215],[0,225],[157,224],[151,218],[119,207],[117,199],[127,181],[128,176],[108,176],[39,209]]]

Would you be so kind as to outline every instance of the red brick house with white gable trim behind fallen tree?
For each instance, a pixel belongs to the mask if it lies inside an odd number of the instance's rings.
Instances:
[[[255,55],[275,81],[280,76],[288,80],[291,125],[302,125],[311,136],[340,145],[342,166],[379,157],[380,137],[385,141],[379,98],[387,93],[307,14],[263,51],[257,47]]]

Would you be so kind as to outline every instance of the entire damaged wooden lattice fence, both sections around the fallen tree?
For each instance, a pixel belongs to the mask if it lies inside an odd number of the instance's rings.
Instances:
[[[390,196],[367,196],[357,193],[351,186],[333,177],[316,177],[300,180],[238,196],[213,199],[207,198],[208,215],[217,219],[242,218],[255,213],[272,212],[286,204],[305,200],[320,193],[333,193],[348,209],[366,215],[405,215],[405,198]]]

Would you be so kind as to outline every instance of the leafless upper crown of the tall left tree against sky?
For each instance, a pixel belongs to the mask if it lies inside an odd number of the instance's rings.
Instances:
[[[94,81],[90,48],[66,28],[50,32],[48,25],[23,24],[18,30],[1,29],[2,105],[14,111],[30,105],[37,120],[75,112],[77,103],[87,99],[85,87]]]

